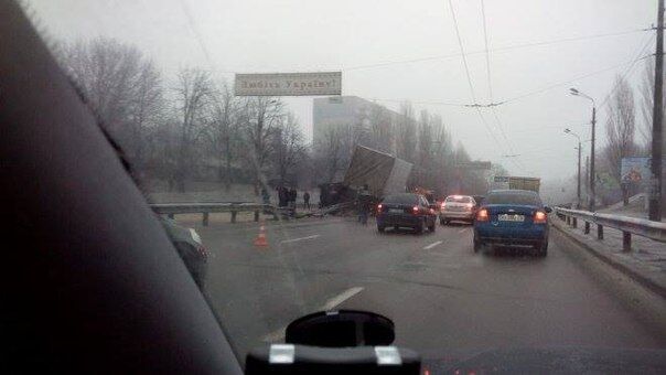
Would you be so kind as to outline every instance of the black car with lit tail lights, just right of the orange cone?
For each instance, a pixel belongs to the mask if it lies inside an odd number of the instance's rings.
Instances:
[[[383,233],[387,226],[396,231],[400,227],[413,228],[416,233],[422,233],[426,227],[434,232],[437,213],[420,194],[394,194],[387,195],[377,205],[377,229]]]

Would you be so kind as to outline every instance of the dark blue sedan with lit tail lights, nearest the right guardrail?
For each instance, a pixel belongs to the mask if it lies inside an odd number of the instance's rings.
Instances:
[[[539,195],[527,190],[491,191],[474,219],[474,251],[484,246],[533,248],[548,255],[548,213]]]

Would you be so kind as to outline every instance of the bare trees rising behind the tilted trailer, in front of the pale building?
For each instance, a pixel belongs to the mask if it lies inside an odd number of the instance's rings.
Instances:
[[[485,192],[481,172],[458,168],[471,161],[462,143],[453,138],[439,115],[402,103],[399,113],[370,105],[353,124],[326,129],[313,146],[314,179],[333,182],[342,178],[355,144],[391,153],[413,164],[409,185],[451,192]]]

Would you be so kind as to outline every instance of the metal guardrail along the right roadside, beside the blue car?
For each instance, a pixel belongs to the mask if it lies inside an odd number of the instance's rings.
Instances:
[[[590,233],[590,224],[595,224],[599,239],[603,239],[604,226],[622,231],[622,249],[624,251],[631,251],[632,234],[666,243],[666,223],[561,207],[555,207],[555,213],[574,228],[578,227],[579,219],[583,221],[586,234]]]

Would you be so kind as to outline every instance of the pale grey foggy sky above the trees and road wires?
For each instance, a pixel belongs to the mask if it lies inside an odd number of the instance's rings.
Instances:
[[[474,159],[501,162],[513,174],[545,179],[576,173],[576,140],[590,138],[591,106],[568,95],[569,87],[603,101],[626,65],[496,107],[511,147],[490,109],[482,109],[497,142],[473,108],[423,103],[471,104],[462,60],[402,64],[386,62],[460,52],[449,2],[444,0],[30,0],[33,19],[49,38],[112,36],[136,44],[169,79],[182,66],[211,69],[233,82],[233,73],[341,69],[343,95],[376,99],[398,109],[440,114],[455,141]],[[656,0],[485,0],[490,49],[563,38],[651,28]],[[465,52],[483,51],[479,0],[454,0]],[[631,61],[654,31],[491,52],[494,101],[589,75]],[[649,45],[654,53],[654,42]],[[468,56],[481,104],[490,103],[485,54]],[[376,65],[367,68],[358,66]],[[356,68],[355,68],[356,67]],[[636,89],[644,61],[627,75]],[[637,96],[637,93],[636,93]],[[312,98],[287,98],[308,137]],[[637,103],[638,105],[638,103]],[[643,121],[636,110],[637,122]],[[598,149],[605,142],[605,110],[599,114]],[[584,154],[589,152],[586,143]],[[513,160],[503,154],[520,154]]]

